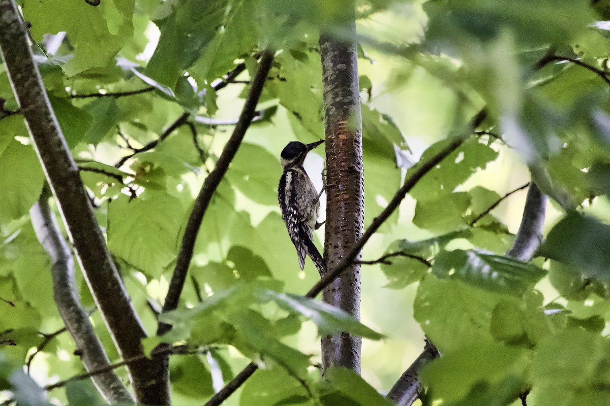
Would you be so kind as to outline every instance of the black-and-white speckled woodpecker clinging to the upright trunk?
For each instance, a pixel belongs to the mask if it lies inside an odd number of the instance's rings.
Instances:
[[[301,269],[305,266],[305,254],[314,261],[321,275],[326,273],[326,263],[314,244],[314,229],[318,220],[320,195],[303,168],[307,153],[324,141],[303,144],[292,141],[282,150],[281,162],[284,173],[279,179],[278,200],[282,219],[286,223],[290,240],[295,245]],[[324,190],[324,189],[322,189]]]

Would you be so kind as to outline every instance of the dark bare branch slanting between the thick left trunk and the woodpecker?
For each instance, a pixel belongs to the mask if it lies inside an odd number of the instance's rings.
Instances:
[[[242,114],[240,114],[239,122],[235,125],[231,138],[224,145],[223,152],[218,158],[216,166],[207,176],[206,180],[201,186],[199,195],[195,199],[195,206],[193,211],[188,217],[187,225],[184,229],[184,236],[182,237],[182,243],[178,258],[176,259],[176,267],[174,273],[171,276],[170,287],[165,297],[165,303],[163,303],[163,312],[176,309],[178,306],[178,300],[184,287],[184,281],[187,276],[188,266],[193,257],[193,250],[195,249],[195,240],[199,233],[199,226],[203,220],[203,216],[206,214],[207,207],[212,200],[212,195],[216,191],[218,184],[223,180],[224,173],[229,169],[229,164],[237,153],[240,144],[242,143],[243,136],[246,134],[246,130],[254,117],[256,112],[256,105],[259,101],[260,94],[262,93],[263,86],[265,85],[265,79],[271,69],[271,61],[273,61],[273,52],[265,51],[260,58],[259,69],[254,75],[252,81],[252,87],[248,93],[248,98],[243,106]],[[161,335],[169,331],[171,326],[165,323],[159,323],[157,327],[157,335]]]

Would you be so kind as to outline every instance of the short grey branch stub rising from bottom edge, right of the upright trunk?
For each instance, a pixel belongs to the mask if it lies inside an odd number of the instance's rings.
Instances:
[[[424,365],[439,356],[439,350],[426,338],[426,345],[422,354],[404,371],[386,397],[397,406],[410,406],[417,400],[422,390],[422,385],[418,380],[419,371]]]

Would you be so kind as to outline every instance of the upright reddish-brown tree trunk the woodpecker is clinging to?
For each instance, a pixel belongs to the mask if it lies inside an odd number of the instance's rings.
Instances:
[[[355,24],[343,40],[321,35],[326,169],[325,259],[336,267],[364,229],[362,119]],[[345,40],[348,38],[348,40]],[[360,259],[360,254],[356,261]],[[322,300],[360,318],[360,265],[350,265],[322,293]],[[337,365],[360,373],[362,340],[350,334],[322,338],[322,371]]]

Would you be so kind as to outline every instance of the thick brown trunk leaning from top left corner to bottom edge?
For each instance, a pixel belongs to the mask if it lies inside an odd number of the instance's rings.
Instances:
[[[59,206],[85,279],[123,358],[143,354],[146,332],[110,258],[74,159],[32,60],[27,28],[12,0],[0,0],[0,49],[13,92]],[[167,365],[142,359],[127,367],[138,404],[170,404]]]

